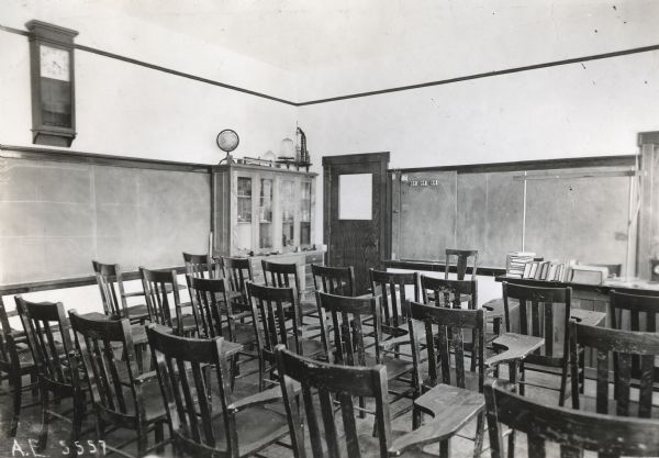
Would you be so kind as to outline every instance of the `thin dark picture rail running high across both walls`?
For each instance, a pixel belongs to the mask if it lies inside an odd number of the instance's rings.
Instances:
[[[8,26],[1,25],[1,24],[0,24],[0,31],[10,32],[10,33],[14,33],[18,35],[23,35],[23,36],[30,36],[30,33],[26,31],[8,27]],[[249,89],[244,89],[244,88],[241,88],[237,86],[227,85],[227,83],[215,81],[215,80],[212,80],[209,78],[203,78],[200,76],[196,76],[196,75],[187,74],[183,71],[178,71],[178,70],[175,70],[171,68],[163,67],[159,65],[149,64],[144,60],[138,60],[138,59],[122,56],[119,54],[109,53],[109,52],[105,52],[102,49],[97,49],[94,47],[78,45],[78,44],[76,44],[75,46],[77,49],[85,51],[88,53],[93,53],[93,54],[98,54],[100,56],[114,58],[118,60],[123,60],[125,63],[150,68],[153,70],[158,70],[158,71],[163,71],[166,74],[176,75],[181,78],[192,79],[194,81],[204,82],[206,85],[212,85],[212,86],[217,86],[217,87],[221,87],[224,89],[243,92],[243,93],[254,96],[254,97],[260,97],[263,99],[272,100],[275,102],[284,103],[287,105],[292,105],[292,107],[306,107],[306,105],[314,105],[314,104],[320,104],[320,103],[337,102],[337,101],[342,101],[342,100],[359,99],[362,97],[381,96],[381,94],[390,93],[390,92],[401,92],[401,91],[409,91],[409,90],[414,90],[414,89],[423,89],[423,88],[428,88],[428,87],[433,87],[433,86],[450,85],[450,83],[455,83],[455,82],[469,81],[469,80],[473,80],[473,79],[491,78],[491,77],[496,77],[496,76],[502,76],[502,75],[518,74],[522,71],[539,70],[543,68],[559,67],[562,65],[570,65],[570,64],[579,64],[579,63],[589,62],[589,60],[608,59],[608,58],[614,58],[614,57],[628,56],[630,54],[640,54],[640,53],[649,53],[649,52],[654,52],[654,51],[659,51],[659,44],[658,44],[658,45],[651,45],[651,46],[635,47],[635,48],[630,48],[630,49],[615,51],[612,53],[594,54],[594,55],[590,55],[590,56],[573,57],[573,58],[562,59],[562,60],[552,60],[552,62],[543,63],[543,64],[526,65],[523,67],[514,67],[514,68],[507,68],[507,69],[503,69],[503,70],[487,71],[487,72],[482,72],[482,74],[474,74],[474,75],[461,76],[461,77],[456,77],[456,78],[440,79],[437,81],[422,82],[418,85],[400,86],[400,87],[395,87],[395,88],[379,89],[379,90],[368,91],[368,92],[357,92],[357,93],[347,94],[347,96],[331,97],[327,99],[310,100],[306,102],[293,102],[291,100],[286,100],[286,99],[281,99],[278,97],[268,96],[267,93],[257,92],[257,91],[253,91]]]

